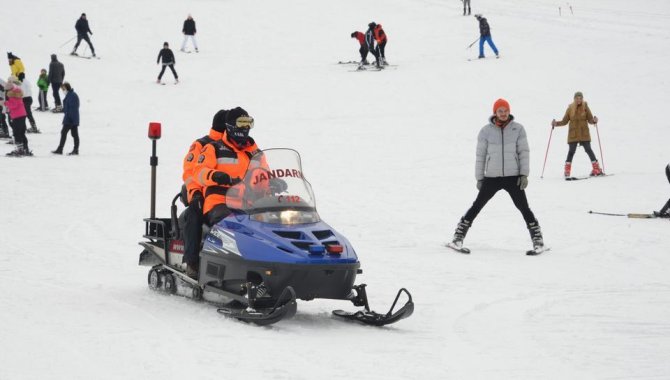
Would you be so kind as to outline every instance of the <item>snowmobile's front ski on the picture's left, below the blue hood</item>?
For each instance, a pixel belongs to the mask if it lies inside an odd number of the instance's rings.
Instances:
[[[275,305],[270,309],[254,310],[245,307],[224,306],[218,308],[219,313],[238,319],[242,322],[253,323],[259,326],[267,326],[277,323],[285,318],[291,318],[298,310],[295,300],[295,290],[287,286],[277,299]]]

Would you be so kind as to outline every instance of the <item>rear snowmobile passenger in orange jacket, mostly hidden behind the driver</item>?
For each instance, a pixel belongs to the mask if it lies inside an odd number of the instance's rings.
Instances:
[[[186,188],[186,201],[188,207],[184,211],[184,257],[182,262],[186,264],[186,275],[195,277],[198,273],[198,258],[200,241],[202,240],[202,206],[203,186],[194,178],[193,169],[196,158],[200,155],[203,147],[223,138],[226,131],[227,110],[218,111],[212,120],[212,128],[209,134],[195,140],[184,157],[184,172],[182,179]]]

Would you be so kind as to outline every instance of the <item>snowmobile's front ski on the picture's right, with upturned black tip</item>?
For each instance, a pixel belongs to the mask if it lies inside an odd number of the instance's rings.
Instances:
[[[353,290],[356,290],[357,295],[354,299],[351,300],[356,306],[364,306],[364,310],[359,310],[353,313],[344,310],[333,310],[333,315],[336,316],[337,318],[341,318],[347,321],[360,322],[365,325],[385,326],[398,322],[401,319],[405,319],[411,316],[412,313],[414,312],[414,302],[412,302],[412,295],[405,288],[401,288],[398,291],[398,294],[393,300],[391,308],[386,314],[379,314],[370,310],[370,306],[368,304],[368,296],[365,291],[365,287],[366,287],[365,284],[354,286]],[[405,303],[405,305],[403,305],[398,310],[394,311],[396,304],[398,303],[398,299],[400,298],[400,295],[402,295],[403,293],[407,294],[407,297],[409,299]]]

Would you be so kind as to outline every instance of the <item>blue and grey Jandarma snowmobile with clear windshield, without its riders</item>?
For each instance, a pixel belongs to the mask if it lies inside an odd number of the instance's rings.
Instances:
[[[139,243],[144,248],[139,264],[151,267],[151,289],[204,299],[226,316],[257,325],[292,317],[297,299],[350,301],[362,309],[333,315],[374,326],[414,311],[404,288],[387,313],[370,309],[366,285],[354,285],[362,273],[358,256],[343,235],[321,220],[294,150],[268,149],[251,158],[242,181],[226,193],[232,213],[211,228],[203,225],[197,278],[186,275],[182,264],[180,198],[172,199],[170,218],[144,219],[147,241]],[[407,300],[396,308],[402,295]]]

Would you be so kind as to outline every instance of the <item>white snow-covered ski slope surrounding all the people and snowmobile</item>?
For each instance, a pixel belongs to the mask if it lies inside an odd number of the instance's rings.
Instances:
[[[81,99],[81,154],[50,153],[62,120],[51,113],[35,115],[34,157],[0,146],[0,379],[670,378],[670,222],[588,214],[651,212],[670,196],[670,3],[571,5],[574,15],[563,1],[473,1],[501,59],[468,62],[478,24],[456,0],[7,2],[3,58],[19,56],[35,83],[58,54]],[[100,60],[63,45],[82,12]],[[188,13],[198,54],[178,51]],[[371,21],[397,68],[336,64],[358,58],[349,35]],[[178,85],[169,71],[155,83],[164,41]],[[616,175],[564,181],[557,128],[541,179],[550,121],[575,91],[600,119],[601,162]],[[476,196],[476,137],[500,97],[530,141],[528,198],[552,248],[538,257],[525,256],[530,238],[505,193],[476,219],[471,255],[443,247]],[[234,106],[256,119],[260,147],[301,153],[321,217],[360,256],[372,307],[385,312],[407,287],[410,319],[344,323],[330,312],[353,305],[316,300],[259,328],[148,289],[137,265],[148,123],[163,125],[167,216],[189,145]],[[573,173],[589,170],[579,148]]]

